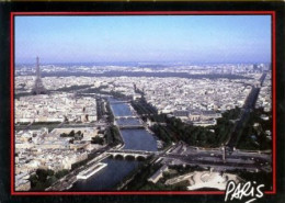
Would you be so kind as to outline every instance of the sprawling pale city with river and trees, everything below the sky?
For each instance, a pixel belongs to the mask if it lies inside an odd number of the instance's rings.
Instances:
[[[271,190],[270,66],[236,67],[78,66],[69,75],[54,66],[43,77],[46,92],[33,91],[38,78],[19,67],[15,190],[223,191],[254,177]]]

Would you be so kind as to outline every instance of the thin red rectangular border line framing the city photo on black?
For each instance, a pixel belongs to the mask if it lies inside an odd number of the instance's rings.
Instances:
[[[273,112],[273,190],[276,194],[276,40],[275,11],[130,11],[130,12],[11,12],[10,13],[10,71],[11,71],[11,195],[161,195],[161,194],[225,194],[224,191],[110,191],[110,192],[16,192],[14,191],[14,16],[15,15],[258,15],[272,16],[272,112]]]

